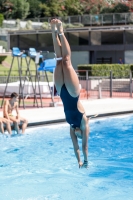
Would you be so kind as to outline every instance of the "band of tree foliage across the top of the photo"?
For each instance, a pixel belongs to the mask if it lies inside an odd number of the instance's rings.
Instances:
[[[0,0],[7,18],[37,18],[133,11],[133,1],[123,0]]]

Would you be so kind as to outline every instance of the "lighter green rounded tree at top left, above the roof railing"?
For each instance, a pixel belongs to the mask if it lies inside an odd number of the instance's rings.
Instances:
[[[12,18],[25,19],[29,14],[29,3],[27,0],[10,0],[13,4]]]

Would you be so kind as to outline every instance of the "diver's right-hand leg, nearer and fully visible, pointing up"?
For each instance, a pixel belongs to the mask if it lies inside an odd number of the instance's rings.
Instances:
[[[76,97],[80,93],[80,88],[79,88],[79,80],[77,74],[71,64],[71,49],[63,33],[62,22],[60,20],[57,20],[56,27],[58,29],[61,40],[64,83],[70,95]]]

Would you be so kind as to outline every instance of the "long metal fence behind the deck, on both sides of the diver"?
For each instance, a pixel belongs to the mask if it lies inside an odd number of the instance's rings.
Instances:
[[[124,77],[114,76],[113,71],[108,71],[109,76],[89,76],[89,70],[79,70],[76,71],[79,77],[79,83],[81,85],[80,98],[90,99],[90,98],[114,98],[114,97],[133,97],[133,79],[132,71],[125,73]],[[101,72],[101,71],[100,71]],[[107,74],[107,71],[106,71]],[[118,73],[117,73],[118,74]],[[119,72],[122,74],[122,71]],[[35,81],[35,72],[32,71],[32,81]],[[48,74],[48,79],[50,82],[53,81],[53,74]],[[22,76],[22,81],[25,80],[25,76]],[[7,76],[0,76],[0,88],[5,87],[7,81]],[[31,79],[26,77],[26,84],[30,83]],[[14,82],[19,82],[19,76],[10,76],[9,83],[13,86]],[[39,74],[39,82],[43,84],[46,82],[46,77],[44,74]],[[9,84],[8,84],[9,85]],[[2,89],[0,89],[2,95]],[[12,91],[13,92],[13,91]]]

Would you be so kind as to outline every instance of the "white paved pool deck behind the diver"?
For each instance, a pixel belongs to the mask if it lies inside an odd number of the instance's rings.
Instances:
[[[87,116],[94,114],[103,115],[119,112],[133,112],[132,98],[93,99],[82,100],[81,102]],[[50,122],[52,120],[65,119],[63,106],[20,109],[20,115],[27,118],[29,123]],[[0,116],[2,116],[2,111],[0,111]]]

